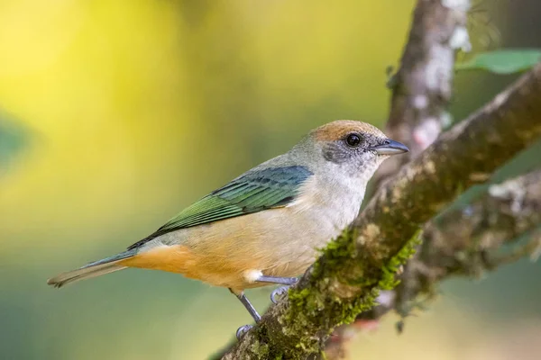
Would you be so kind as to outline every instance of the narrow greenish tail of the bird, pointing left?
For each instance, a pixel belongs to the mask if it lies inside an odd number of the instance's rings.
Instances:
[[[87,264],[86,266],[79,267],[76,270],[62,273],[47,280],[47,284],[54,287],[64,286],[78,282],[79,280],[90,279],[92,277],[101,276],[109,273],[114,273],[118,270],[123,270],[126,266],[118,265],[119,261],[135,256],[137,251],[135,249],[124,251],[115,255],[114,257],[105,257],[105,259],[95,261]]]

